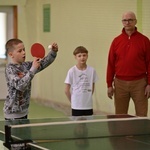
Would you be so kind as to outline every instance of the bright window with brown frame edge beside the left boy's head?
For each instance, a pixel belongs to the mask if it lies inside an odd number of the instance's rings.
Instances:
[[[0,6],[0,67],[6,63],[5,44],[17,38],[17,6]]]

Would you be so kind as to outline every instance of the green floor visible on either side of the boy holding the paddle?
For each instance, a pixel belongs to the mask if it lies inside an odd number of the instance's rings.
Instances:
[[[3,106],[4,106],[4,101],[0,100],[0,119],[2,120],[4,119]],[[65,117],[65,114],[63,112],[55,110],[54,108],[43,106],[31,100],[29,106],[29,115],[28,115],[29,119],[30,118],[51,118],[51,117]]]

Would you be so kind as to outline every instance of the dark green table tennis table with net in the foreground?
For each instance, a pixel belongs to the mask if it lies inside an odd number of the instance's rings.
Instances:
[[[10,150],[150,150],[148,117],[96,115],[0,123],[5,126],[0,138]]]

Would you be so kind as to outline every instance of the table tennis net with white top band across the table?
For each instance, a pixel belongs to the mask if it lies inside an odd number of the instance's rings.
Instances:
[[[150,120],[143,118],[96,119],[10,125],[11,137],[32,141],[71,140],[150,134]]]

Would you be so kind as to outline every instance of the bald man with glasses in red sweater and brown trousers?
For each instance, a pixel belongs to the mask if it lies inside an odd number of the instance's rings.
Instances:
[[[122,15],[122,33],[114,38],[108,55],[108,97],[114,95],[115,113],[127,114],[130,99],[137,116],[147,116],[150,96],[150,41],[137,31],[133,12]]]

